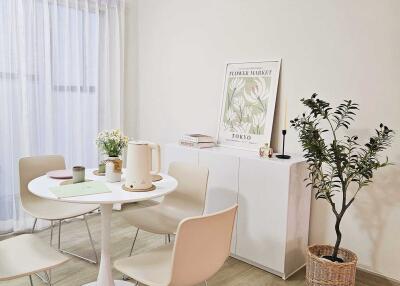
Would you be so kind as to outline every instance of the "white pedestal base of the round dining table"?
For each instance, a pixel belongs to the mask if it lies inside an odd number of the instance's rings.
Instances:
[[[101,204],[101,259],[97,281],[84,286],[132,286],[133,284],[123,280],[114,280],[112,277],[112,265],[110,258],[110,234],[112,204]]]

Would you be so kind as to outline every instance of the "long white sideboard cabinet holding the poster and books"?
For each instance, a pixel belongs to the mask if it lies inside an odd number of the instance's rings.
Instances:
[[[235,203],[239,209],[231,255],[288,278],[305,264],[311,193],[304,159],[261,159],[256,152],[168,144],[163,169],[184,161],[210,170],[206,213]]]

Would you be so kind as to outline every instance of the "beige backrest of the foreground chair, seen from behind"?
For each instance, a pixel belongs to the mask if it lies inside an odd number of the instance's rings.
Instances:
[[[221,268],[230,254],[236,211],[237,205],[179,224],[169,285],[196,285]]]

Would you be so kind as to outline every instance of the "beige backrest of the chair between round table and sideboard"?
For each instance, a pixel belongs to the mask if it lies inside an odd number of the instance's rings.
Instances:
[[[178,181],[178,187],[165,196],[162,204],[188,212],[189,216],[202,215],[206,200],[208,168],[173,162],[169,166],[168,174]]]

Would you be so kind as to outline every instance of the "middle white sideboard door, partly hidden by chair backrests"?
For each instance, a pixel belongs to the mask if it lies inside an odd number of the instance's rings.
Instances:
[[[205,213],[217,212],[236,204],[239,158],[213,151],[201,151],[199,153],[199,165],[208,167],[210,171]],[[235,248],[236,226],[232,235],[232,253],[235,253]]]

